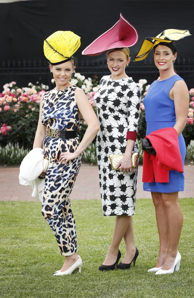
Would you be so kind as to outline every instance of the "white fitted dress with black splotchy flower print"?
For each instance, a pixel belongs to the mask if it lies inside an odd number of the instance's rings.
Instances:
[[[124,154],[127,132],[138,130],[140,88],[131,77],[112,80],[104,76],[94,102],[100,122],[96,151],[103,213],[134,215],[137,169],[131,173],[112,170],[109,154]],[[138,152],[136,142],[132,152]]]

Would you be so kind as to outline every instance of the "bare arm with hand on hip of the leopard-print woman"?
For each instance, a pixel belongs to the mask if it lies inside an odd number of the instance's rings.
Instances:
[[[65,163],[69,160],[77,158],[93,141],[97,132],[100,129],[98,118],[96,117],[93,108],[90,105],[90,102],[85,95],[84,91],[80,88],[77,88],[75,91],[76,103],[78,106],[78,110],[83,116],[85,122],[87,123],[87,129],[83,136],[81,143],[78,145],[78,148],[74,153],[61,153],[59,162],[62,163],[61,159],[65,158]]]

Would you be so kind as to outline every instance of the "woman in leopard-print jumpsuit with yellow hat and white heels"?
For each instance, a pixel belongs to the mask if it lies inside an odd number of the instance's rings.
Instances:
[[[75,60],[72,56],[67,58],[61,47],[63,43],[66,46],[69,36],[77,46],[80,38],[70,31],[57,31],[44,44],[44,54],[50,60],[49,68],[56,88],[45,92],[41,98],[33,145],[33,148],[43,148],[50,162],[45,175],[42,215],[55,235],[62,256],[65,256],[64,265],[54,275],[70,274],[76,268],[81,271],[82,261],[77,254],[76,224],[70,206],[70,193],[81,166],[82,152],[99,130],[98,119],[84,91],[70,83]],[[57,50],[62,52],[63,58]],[[76,131],[83,118],[88,127],[79,142]]]

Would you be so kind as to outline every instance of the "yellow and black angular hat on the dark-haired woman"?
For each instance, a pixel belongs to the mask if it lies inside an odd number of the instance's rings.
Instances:
[[[160,42],[176,41],[189,35],[191,35],[189,30],[167,29],[158,34],[156,37],[147,37],[144,39],[138,54],[134,58],[134,61],[144,60],[151,49]],[[150,40],[149,38],[152,38],[153,40]]]

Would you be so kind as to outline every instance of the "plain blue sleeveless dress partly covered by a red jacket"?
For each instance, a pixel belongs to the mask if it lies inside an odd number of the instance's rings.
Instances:
[[[173,127],[176,123],[174,101],[169,97],[170,90],[176,81],[183,80],[179,75],[173,75],[163,81],[154,81],[144,97],[144,107],[147,123],[146,135],[152,131]],[[183,80],[184,81],[184,80]],[[182,134],[178,137],[179,148],[184,167],[186,145]],[[174,193],[184,190],[184,173],[169,171],[169,182],[144,182],[143,189],[160,193]]]

